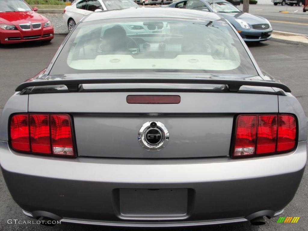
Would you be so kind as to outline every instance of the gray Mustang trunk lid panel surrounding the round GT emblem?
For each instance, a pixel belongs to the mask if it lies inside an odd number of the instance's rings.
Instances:
[[[270,88],[271,89],[271,88]],[[129,104],[128,95],[179,95],[178,104]],[[29,95],[29,112],[69,113],[78,156],[192,158],[228,156],[234,116],[277,113],[278,96],[232,92],[106,91]],[[165,125],[169,141],[150,152],[138,142],[144,123]]]

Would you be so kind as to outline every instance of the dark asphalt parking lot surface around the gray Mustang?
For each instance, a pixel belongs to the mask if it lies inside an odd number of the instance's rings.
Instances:
[[[55,39],[50,44],[37,42],[0,47],[0,112],[2,111],[7,99],[14,94],[14,89],[18,83],[30,78],[48,65],[64,38],[65,35],[55,35]],[[298,98],[304,108],[306,116],[308,116],[308,79],[306,77],[308,73],[308,65],[306,63],[308,61],[308,45],[272,40],[259,44],[249,44],[249,49],[252,51],[262,69],[272,74],[291,88],[293,95]],[[302,183],[294,200],[286,207],[285,212],[283,213],[283,216],[300,217],[297,224],[278,224],[278,218],[274,218],[263,226],[251,226],[250,223],[247,222],[199,228],[177,228],[165,230],[307,230],[307,180],[308,168],[306,168]],[[285,183],[287,184],[288,182]],[[31,221],[32,219],[23,215],[21,209],[13,201],[8,189],[6,188],[1,173],[0,197],[0,230],[134,230],[71,224],[56,225],[54,227],[36,224],[8,224],[8,219],[18,219],[22,221]],[[153,231],[157,229],[147,230]]]

